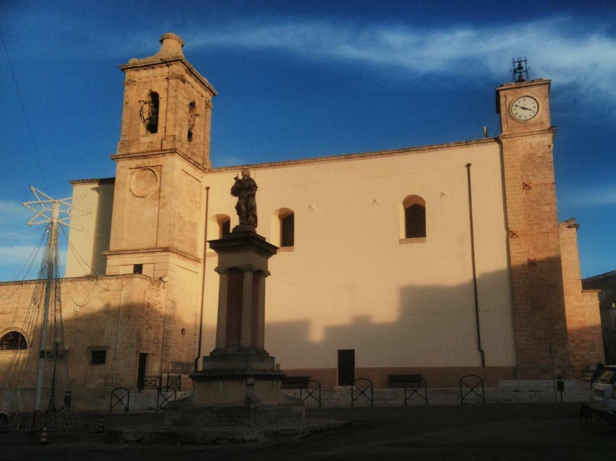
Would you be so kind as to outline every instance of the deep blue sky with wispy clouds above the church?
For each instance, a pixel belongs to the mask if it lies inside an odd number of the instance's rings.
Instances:
[[[0,0],[0,280],[41,237],[20,205],[31,184],[65,197],[70,179],[114,175],[117,66],[168,31],[219,92],[214,166],[493,136],[494,88],[526,56],[552,80],[559,219],[581,223],[582,276],[615,270],[616,2],[509,3]]]

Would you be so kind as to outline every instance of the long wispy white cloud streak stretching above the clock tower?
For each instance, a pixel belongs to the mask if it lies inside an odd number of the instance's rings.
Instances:
[[[531,78],[557,79],[616,98],[616,38],[599,27],[583,31],[570,18],[502,27],[439,27],[338,24],[281,19],[233,23],[187,37],[191,46],[280,49],[310,59],[338,59],[402,68],[409,77],[450,75],[463,79],[508,75],[513,57],[526,55]]]

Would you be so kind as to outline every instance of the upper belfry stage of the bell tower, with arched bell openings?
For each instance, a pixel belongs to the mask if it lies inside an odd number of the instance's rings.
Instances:
[[[184,41],[167,33],[158,53],[120,66],[126,74],[118,155],[173,150],[209,168],[214,87],[188,63]]]

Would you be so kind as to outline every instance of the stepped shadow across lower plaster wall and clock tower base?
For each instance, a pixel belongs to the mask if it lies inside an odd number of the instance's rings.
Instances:
[[[519,369],[535,369],[535,373],[551,377],[553,359],[556,373],[566,376],[570,363],[560,263],[536,260],[534,266],[516,267],[514,272],[530,287],[524,296],[518,295],[520,307],[515,316],[509,272],[477,277],[485,370],[477,343],[472,279],[450,286],[402,287],[396,316],[379,315],[383,309],[378,303],[368,304],[369,300],[355,295],[357,311],[373,314],[353,316],[346,325],[332,325],[339,321],[336,317],[341,317],[335,311],[317,308],[300,312],[290,298],[285,309],[296,312],[301,320],[267,322],[265,348],[276,356],[283,370],[293,375],[316,373],[326,387],[337,385],[338,349],[354,349],[355,377],[360,377],[360,370],[373,373],[378,386],[386,385],[387,375],[398,373],[421,373],[443,386],[457,386],[466,373],[483,376],[491,385],[498,379],[516,378]],[[314,306],[320,303],[319,295],[311,300]],[[378,292],[371,298],[378,298]],[[316,321],[310,316],[325,324],[318,341],[310,340]],[[374,369],[381,370],[370,371]]]

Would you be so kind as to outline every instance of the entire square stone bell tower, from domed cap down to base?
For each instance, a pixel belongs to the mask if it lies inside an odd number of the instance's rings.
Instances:
[[[182,306],[180,320],[188,327],[182,334],[194,327],[203,256],[203,176],[210,168],[216,91],[185,59],[179,36],[167,33],[160,41],[155,55],[120,66],[126,78],[120,142],[111,155],[116,177],[105,255],[107,274],[166,280],[164,370],[166,362],[177,364],[194,354],[192,346],[190,352],[188,345],[179,351],[172,341],[180,330],[176,305]]]

